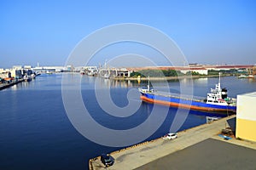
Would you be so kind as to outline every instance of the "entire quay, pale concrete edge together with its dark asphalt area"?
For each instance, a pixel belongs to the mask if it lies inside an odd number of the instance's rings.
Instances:
[[[216,167],[251,169],[255,167],[255,143],[236,139],[227,141],[216,135],[224,124],[234,117],[236,116],[225,117],[178,132],[178,138],[172,142],[155,139],[113,151],[110,155],[118,161],[115,161],[111,168],[122,170],[172,169],[172,167],[173,169],[216,169]],[[89,166],[90,170],[106,169],[99,156],[90,159]]]

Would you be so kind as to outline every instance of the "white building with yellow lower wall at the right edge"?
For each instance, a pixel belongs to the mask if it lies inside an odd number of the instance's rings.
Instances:
[[[237,95],[236,138],[256,142],[256,92]]]

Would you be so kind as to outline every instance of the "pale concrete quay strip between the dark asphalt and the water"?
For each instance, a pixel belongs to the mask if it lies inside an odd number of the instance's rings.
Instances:
[[[221,140],[222,143],[227,142],[230,144],[237,144],[240,146],[245,146],[247,148],[256,150],[256,143],[242,141],[238,139],[224,140],[223,138],[218,137],[218,133],[220,133],[222,129],[228,126],[228,123],[226,121],[234,117],[236,117],[236,115],[225,117],[218,121],[214,121],[198,127],[192,127],[190,129],[184,130],[178,133],[177,139],[155,139],[154,141],[151,142],[137,144],[137,146],[110,153],[110,155],[113,156],[113,158],[115,159],[115,162],[113,166],[108,167],[108,169],[140,169],[139,167],[147,165],[149,167],[154,167],[153,169],[161,169],[163,163],[159,163],[157,160],[161,160],[165,156],[172,156],[172,154],[174,154],[178,150],[186,149],[189,146],[199,144],[207,139],[217,139]],[[213,148],[213,150],[215,149]],[[151,163],[153,163],[154,165],[151,165]],[[169,164],[168,162],[166,163]],[[89,165],[90,169],[93,170],[106,169],[106,167],[104,167],[102,162],[99,160],[99,157],[91,159],[89,161]],[[152,169],[148,167],[143,167],[141,169],[145,168]]]

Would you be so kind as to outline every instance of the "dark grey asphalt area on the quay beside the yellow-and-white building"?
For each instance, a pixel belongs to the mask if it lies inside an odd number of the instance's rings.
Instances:
[[[255,170],[255,168],[256,150],[218,139],[206,139],[184,150],[178,150],[173,154],[151,161],[136,170]]]

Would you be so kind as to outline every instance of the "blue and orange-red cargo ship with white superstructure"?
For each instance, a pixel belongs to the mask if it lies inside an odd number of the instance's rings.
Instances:
[[[141,99],[148,103],[167,105],[171,107],[181,107],[195,111],[221,111],[236,112],[236,99],[228,97],[227,88],[220,87],[220,75],[218,84],[211,88],[211,93],[207,94],[207,99],[183,98],[179,94],[164,94],[155,91],[149,86],[138,88]]]

